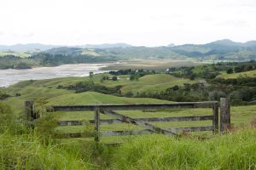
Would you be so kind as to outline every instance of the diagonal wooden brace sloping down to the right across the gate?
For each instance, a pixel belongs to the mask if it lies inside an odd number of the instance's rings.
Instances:
[[[130,116],[123,116],[117,112],[109,111],[107,109],[100,109],[100,111],[105,115],[115,116],[117,119],[119,119],[122,122],[132,123],[132,124],[136,124],[140,127],[147,128],[148,130],[150,130],[154,133],[163,133],[166,135],[177,135],[175,132],[172,131],[172,129],[166,130],[166,129],[163,129],[160,127],[156,127],[154,125],[149,124],[148,122],[137,121],[136,119],[133,119]]]

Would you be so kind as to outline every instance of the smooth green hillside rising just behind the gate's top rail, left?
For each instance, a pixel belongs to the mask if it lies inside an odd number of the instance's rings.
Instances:
[[[138,99],[116,97],[108,94],[99,94],[96,92],[87,92],[81,94],[74,94],[73,91],[55,88],[7,88],[5,90],[8,94],[21,94],[19,97],[11,97],[3,102],[11,105],[15,111],[23,110],[23,103],[25,100],[34,100],[40,97],[49,99],[49,105],[85,105],[96,103],[166,103],[167,101],[160,99]]]

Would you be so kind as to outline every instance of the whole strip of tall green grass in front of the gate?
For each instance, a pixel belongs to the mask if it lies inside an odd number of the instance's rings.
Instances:
[[[84,141],[44,143],[35,133],[0,135],[1,169],[255,169],[256,130],[201,140],[159,134],[110,148]]]

